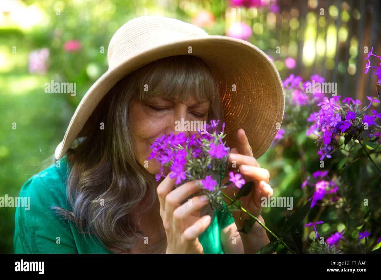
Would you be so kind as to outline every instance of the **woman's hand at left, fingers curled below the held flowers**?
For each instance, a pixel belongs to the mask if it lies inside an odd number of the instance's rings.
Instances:
[[[175,182],[176,177],[171,179],[168,174],[157,187],[160,216],[167,237],[166,254],[203,254],[198,237],[209,226],[211,217],[205,215],[200,218],[200,212],[208,200],[203,201],[201,196],[197,196],[180,205],[200,187],[197,181],[191,181],[172,190]]]

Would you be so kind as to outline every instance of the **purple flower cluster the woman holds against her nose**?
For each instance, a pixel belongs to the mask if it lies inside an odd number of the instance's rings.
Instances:
[[[215,190],[218,183],[207,173],[214,171],[221,173],[230,150],[222,141],[225,123],[222,125],[221,132],[217,131],[218,123],[219,120],[211,120],[210,124],[203,127],[203,131],[197,130],[197,133],[192,134],[191,137],[186,137],[184,133],[176,135],[171,133],[170,135],[163,134],[160,138],[155,139],[150,146],[152,151],[147,160],[155,158],[161,164],[160,173],[155,175],[156,181],[165,177],[163,166],[170,166],[169,176],[171,179],[176,178],[176,185],[182,181],[199,179],[192,176],[194,173],[200,174],[200,176],[205,174],[201,179],[203,188],[209,191]],[[202,164],[200,165],[200,163]],[[215,170],[212,170],[212,166]],[[245,184],[241,175],[233,172],[229,174],[229,181],[231,182],[229,186],[235,184],[238,188]]]

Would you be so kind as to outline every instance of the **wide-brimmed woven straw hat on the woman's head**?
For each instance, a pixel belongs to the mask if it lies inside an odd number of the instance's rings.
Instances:
[[[119,80],[151,62],[176,55],[201,59],[219,80],[227,145],[237,147],[237,131],[243,128],[254,157],[263,155],[274,141],[284,111],[282,80],[268,56],[241,39],[208,35],[177,19],[141,16],[126,22],[111,38],[109,69],[83,96],[55,150],[56,159],[63,157],[77,137],[84,136],[86,121]]]

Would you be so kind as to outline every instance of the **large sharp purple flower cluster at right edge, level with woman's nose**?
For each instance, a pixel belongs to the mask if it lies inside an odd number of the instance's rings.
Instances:
[[[370,96],[367,98],[370,100],[370,104],[367,108],[361,109],[359,106],[362,104],[360,100],[354,100],[352,98],[345,98],[343,105],[339,104],[341,96],[334,96],[330,99],[323,98],[323,101],[317,104],[321,109],[319,112],[313,112],[307,119],[309,122],[314,122],[307,130],[306,136],[315,134],[318,136],[318,142],[322,145],[318,154],[320,160],[325,157],[330,158],[334,152],[335,147],[339,146],[338,141],[341,134],[353,134],[354,131],[361,131],[363,125],[374,126],[368,129],[368,138],[381,136],[381,133],[372,133],[378,125],[375,123],[375,119],[381,117],[376,110],[373,110],[373,115],[363,115],[373,102],[379,103],[378,99],[373,99]],[[358,130],[360,128],[360,130]]]

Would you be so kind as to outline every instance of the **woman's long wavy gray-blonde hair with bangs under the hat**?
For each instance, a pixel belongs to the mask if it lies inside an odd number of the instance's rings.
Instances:
[[[149,92],[144,91],[149,85]],[[139,217],[149,211],[157,198],[157,182],[139,162],[133,143],[136,141],[130,127],[130,101],[154,96],[165,99],[192,94],[197,102],[210,100],[208,122],[223,122],[219,96],[219,83],[209,67],[200,59],[189,56],[171,56],[152,62],[120,80],[98,106],[86,138],[67,152],[70,174],[67,176],[67,197],[72,211],[51,207],[75,224],[81,234],[99,239],[105,248],[114,252],[130,253],[144,238],[139,227],[131,220],[131,212],[147,198],[150,203],[139,212]],[[104,123],[104,130],[99,124]],[[221,129],[221,127],[219,127]],[[213,211],[207,205],[202,214]],[[166,243],[150,246],[147,251],[158,253],[157,248]],[[147,248],[147,247],[146,247]]]

